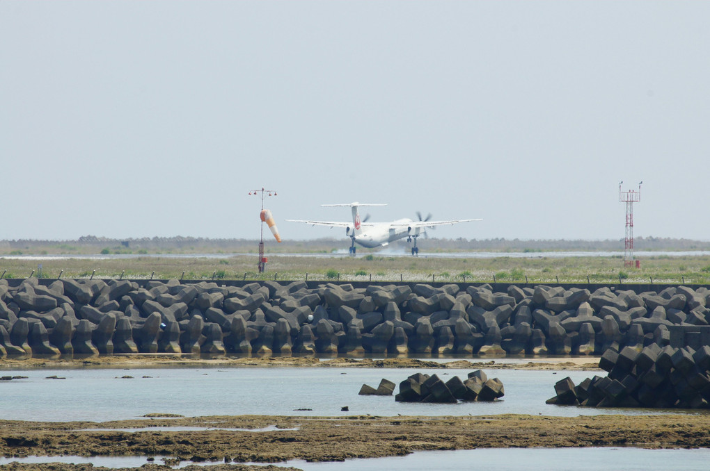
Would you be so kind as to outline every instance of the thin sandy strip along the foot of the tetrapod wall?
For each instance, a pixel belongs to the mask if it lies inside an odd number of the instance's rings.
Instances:
[[[143,368],[173,366],[231,366],[239,367],[308,367],[308,368],[461,368],[480,369],[498,368],[513,370],[599,370],[599,357],[576,358],[496,358],[473,360],[430,361],[417,358],[314,358],[314,357],[226,357],[199,358],[190,355],[137,354],[97,356],[91,358],[2,358],[2,370],[21,370],[27,368]]]

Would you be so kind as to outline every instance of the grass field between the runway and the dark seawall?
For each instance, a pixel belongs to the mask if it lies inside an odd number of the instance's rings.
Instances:
[[[359,280],[409,282],[683,283],[710,284],[710,256],[650,256],[641,268],[625,268],[619,256],[450,259],[367,254],[287,256],[268,254],[258,273],[256,254],[230,256],[145,255],[131,259],[61,259],[0,255],[4,278],[183,278],[185,280]]]

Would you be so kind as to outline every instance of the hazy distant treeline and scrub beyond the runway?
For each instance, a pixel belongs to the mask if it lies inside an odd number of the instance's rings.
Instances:
[[[331,251],[342,249],[349,244],[345,238],[340,239],[310,239],[285,240],[281,244],[273,244],[269,250],[274,251]],[[423,241],[422,241],[423,242]],[[444,251],[623,251],[623,239],[606,240],[566,240],[566,239],[428,239],[427,250]],[[407,242],[398,241],[391,246],[408,246]],[[0,253],[10,251],[36,251],[52,249],[51,251],[86,251],[92,249],[99,253],[102,250],[116,249],[125,251],[224,251],[250,252],[256,249],[255,239],[207,239],[204,237],[143,237],[140,239],[111,239],[107,237],[83,236],[77,240],[3,240],[0,241]],[[691,239],[671,239],[668,237],[635,237],[636,251],[661,250],[710,250],[710,241]]]

